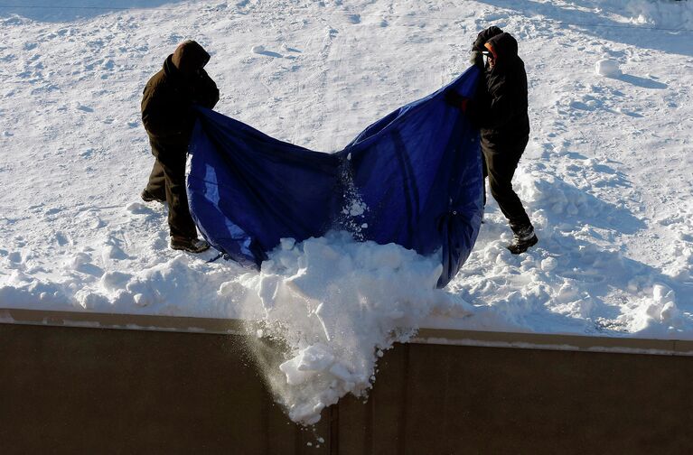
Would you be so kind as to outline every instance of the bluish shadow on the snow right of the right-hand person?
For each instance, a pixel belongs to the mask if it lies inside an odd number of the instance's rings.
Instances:
[[[591,170],[611,176],[611,186],[631,185],[623,173],[606,164],[597,164]],[[541,239],[538,247],[557,258],[558,265],[551,273],[561,277],[572,288],[569,294],[577,300],[586,299],[585,308],[591,309],[588,313],[599,315],[588,321],[593,325],[590,330],[612,336],[631,330],[620,322],[623,309],[621,305],[614,304],[614,292],[623,299],[638,302],[648,299],[647,292],[651,291],[647,289],[659,283],[676,293],[679,307],[690,308],[693,305],[693,283],[664,274],[638,257],[627,257],[617,248],[604,247],[604,242],[613,241],[609,231],[620,236],[637,234],[647,228],[646,223],[632,215],[630,210],[600,200],[558,178],[535,184],[539,190],[538,200],[532,201],[530,209],[541,209],[547,220],[545,228],[538,230]],[[557,198],[556,195],[565,197]],[[574,209],[557,207],[557,200],[564,205],[572,204]],[[576,236],[576,231],[588,235]],[[567,318],[566,323],[576,322],[571,322],[567,316],[564,318]],[[668,322],[660,322],[652,321],[650,326],[642,330],[642,335],[671,336],[673,332],[669,331]],[[691,322],[689,318],[684,321],[688,325]]]

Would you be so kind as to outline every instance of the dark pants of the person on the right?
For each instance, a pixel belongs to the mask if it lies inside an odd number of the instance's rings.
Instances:
[[[531,226],[529,217],[517,193],[512,190],[512,177],[520,163],[529,138],[512,147],[502,150],[483,149],[483,176],[489,178],[493,199],[498,202],[501,212],[508,218],[510,228],[518,232],[520,228]],[[486,191],[484,190],[484,202]]]

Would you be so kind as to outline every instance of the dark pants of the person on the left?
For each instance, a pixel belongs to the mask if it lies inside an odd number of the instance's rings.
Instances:
[[[185,191],[185,151],[158,152],[158,148],[152,144],[156,161],[146,190],[156,199],[168,202],[168,227],[172,238],[197,238]]]

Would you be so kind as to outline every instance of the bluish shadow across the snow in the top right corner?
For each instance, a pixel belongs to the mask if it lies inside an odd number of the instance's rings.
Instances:
[[[623,8],[619,7],[621,5],[604,3],[599,5],[600,12],[597,14],[594,2],[585,0],[574,0],[567,4],[570,7],[557,5],[553,2],[538,3],[536,1],[520,2],[514,6],[509,6],[508,2],[503,0],[482,0],[482,3],[507,11],[509,17],[511,15],[521,15],[527,17],[530,21],[541,21],[541,19],[536,19],[538,17],[553,20],[556,22],[556,27],[559,30],[575,28],[600,40],[622,42],[623,44],[665,51],[670,54],[693,56],[693,46],[690,45],[690,40],[693,38],[693,30],[671,30],[665,26],[658,29],[658,27],[648,24],[637,25],[616,22],[610,17],[623,14]],[[675,8],[682,6],[678,5],[678,3],[662,3],[661,7]],[[488,25],[493,24],[504,25],[501,17],[496,17],[494,23],[489,23]],[[637,32],[632,32],[632,30],[624,32],[623,29],[625,27],[634,29]],[[680,33],[686,33],[686,39],[673,39]]]

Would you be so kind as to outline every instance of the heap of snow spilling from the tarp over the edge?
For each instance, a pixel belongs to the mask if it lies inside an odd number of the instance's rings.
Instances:
[[[441,269],[436,255],[332,233],[284,239],[260,274],[241,278],[265,311],[258,336],[284,346],[264,369],[292,420],[317,422],[343,395],[362,395],[382,351],[406,342],[429,313],[469,314],[435,289]]]

